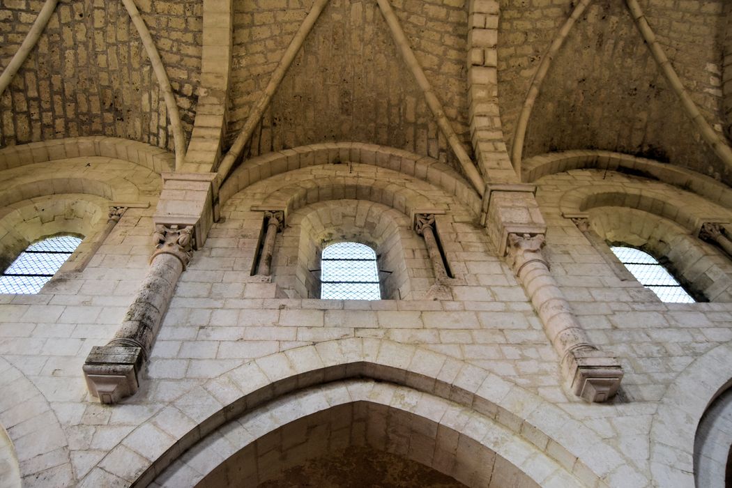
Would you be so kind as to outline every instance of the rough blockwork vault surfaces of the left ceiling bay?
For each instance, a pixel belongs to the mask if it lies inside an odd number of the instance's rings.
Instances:
[[[12,58],[40,1],[4,4],[0,64]],[[201,0],[140,1],[181,110],[193,128],[201,72]],[[173,148],[167,110],[122,2],[61,2],[37,47],[0,96],[0,146],[111,135]]]

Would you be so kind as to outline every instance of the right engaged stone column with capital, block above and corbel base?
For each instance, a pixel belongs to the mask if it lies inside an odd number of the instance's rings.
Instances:
[[[551,275],[542,252],[546,224],[533,191],[526,185],[488,191],[484,198],[488,236],[531,299],[559,354],[567,387],[587,402],[607,401],[618,391],[623,370],[614,356],[591,343]]]

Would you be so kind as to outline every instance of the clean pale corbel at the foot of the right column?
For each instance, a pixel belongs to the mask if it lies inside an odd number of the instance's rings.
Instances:
[[[614,397],[623,378],[617,359],[597,349],[580,348],[567,353],[562,367],[572,393],[590,403]]]

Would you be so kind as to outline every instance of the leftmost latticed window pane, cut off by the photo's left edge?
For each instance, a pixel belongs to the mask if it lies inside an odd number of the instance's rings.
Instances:
[[[31,244],[0,275],[0,293],[38,293],[82,239],[55,236]]]

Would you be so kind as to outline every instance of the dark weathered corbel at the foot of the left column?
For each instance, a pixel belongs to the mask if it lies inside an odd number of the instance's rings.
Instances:
[[[95,346],[83,366],[86,386],[100,402],[117,403],[138,391],[142,364],[141,348]]]

